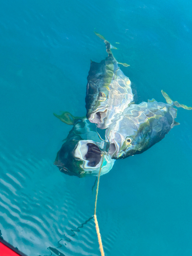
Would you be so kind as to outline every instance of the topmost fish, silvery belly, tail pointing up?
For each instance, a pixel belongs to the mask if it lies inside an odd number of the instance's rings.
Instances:
[[[130,79],[118,66],[129,65],[118,62],[111,51],[117,48],[102,35],[95,34],[104,41],[108,57],[100,63],[91,60],[86,91],[87,118],[98,128],[106,129],[134,100],[134,95]]]

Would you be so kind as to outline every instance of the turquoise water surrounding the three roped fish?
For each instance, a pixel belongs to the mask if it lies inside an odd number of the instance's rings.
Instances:
[[[33,255],[100,255],[95,178],[53,165],[71,130],[53,113],[86,114],[90,59],[105,36],[138,101],[192,105],[189,1],[1,1],[0,230]],[[100,179],[97,216],[106,255],[192,255],[192,111],[141,155]],[[60,254],[59,254],[60,253]]]

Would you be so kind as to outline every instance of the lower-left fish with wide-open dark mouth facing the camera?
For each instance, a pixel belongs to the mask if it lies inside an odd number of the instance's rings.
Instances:
[[[79,178],[108,173],[115,162],[104,151],[105,143],[97,134],[96,126],[86,117],[74,117],[69,112],[54,114],[62,122],[73,125],[57,153],[54,164],[60,172]]]

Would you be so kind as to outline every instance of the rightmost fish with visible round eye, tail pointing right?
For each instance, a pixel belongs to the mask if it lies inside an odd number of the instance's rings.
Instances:
[[[113,159],[123,159],[141,154],[161,141],[179,123],[175,121],[177,109],[191,110],[191,107],[173,101],[162,90],[166,103],[155,99],[140,104],[131,104],[118,121],[113,122],[105,131],[109,140],[108,153]]]

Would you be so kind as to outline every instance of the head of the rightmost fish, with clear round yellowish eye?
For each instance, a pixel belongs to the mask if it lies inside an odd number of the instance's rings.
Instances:
[[[123,159],[140,154],[151,146],[151,127],[148,120],[135,123],[124,116],[116,129],[113,129],[106,130],[106,137],[109,140],[108,153],[112,159]]]

